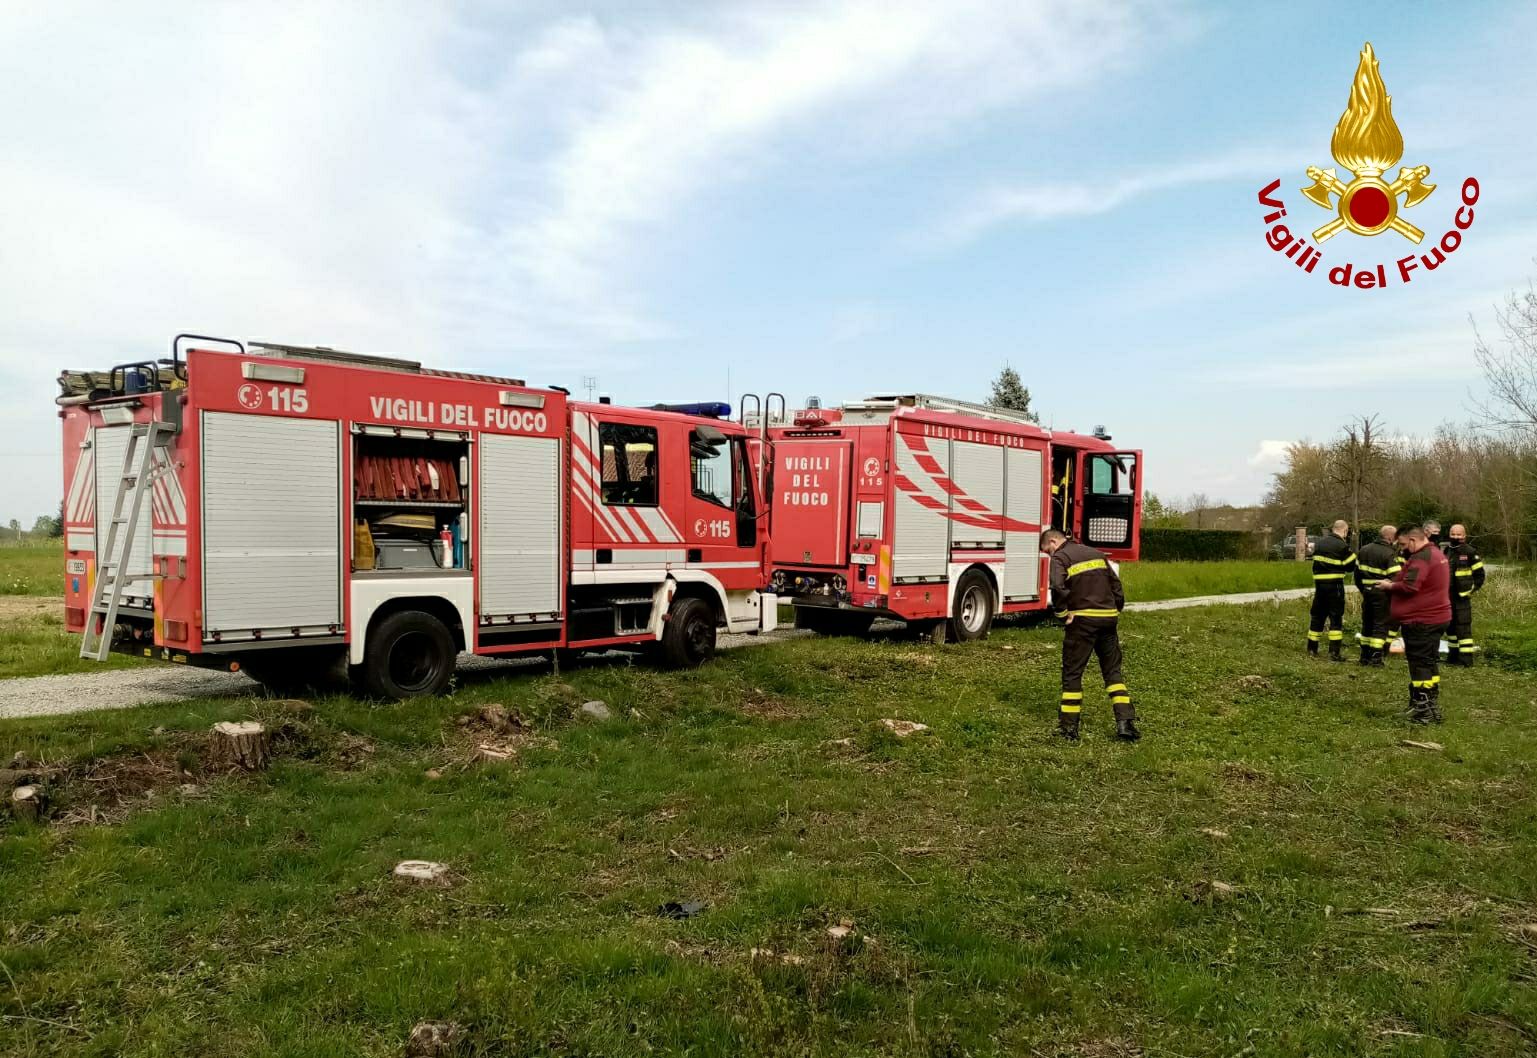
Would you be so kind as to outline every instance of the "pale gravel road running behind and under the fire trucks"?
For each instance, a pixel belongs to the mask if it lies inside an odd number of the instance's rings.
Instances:
[[[1268,603],[1303,598],[1311,587],[1296,587],[1279,592],[1247,592],[1240,595],[1202,595],[1199,598],[1171,598],[1153,603],[1128,603],[1128,611],[1173,611],[1188,606]],[[810,635],[799,629],[782,629],[768,635],[722,635],[719,647],[732,650],[758,643],[778,643]],[[501,672],[543,667],[539,660],[521,658],[501,661],[460,655],[460,672],[464,680],[483,680]],[[89,709],[128,709],[154,701],[181,701],[184,698],[207,698],[215,695],[257,695],[261,687],[238,672],[214,669],[181,669],[168,664],[149,664],[135,669],[109,672],[83,672],[63,677],[26,677],[0,680],[0,720],[12,717],[48,717]]]

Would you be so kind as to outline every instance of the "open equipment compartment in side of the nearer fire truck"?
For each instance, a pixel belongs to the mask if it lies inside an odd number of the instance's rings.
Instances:
[[[469,572],[469,435],[352,429],[352,569]]]

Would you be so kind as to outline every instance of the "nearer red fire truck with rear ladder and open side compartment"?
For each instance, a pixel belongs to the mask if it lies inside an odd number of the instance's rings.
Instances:
[[[198,335],[60,381],[81,657],[272,686],[344,657],[409,697],[441,692],[461,650],[696,664],[718,630],[775,627],[761,438],[739,423]]]

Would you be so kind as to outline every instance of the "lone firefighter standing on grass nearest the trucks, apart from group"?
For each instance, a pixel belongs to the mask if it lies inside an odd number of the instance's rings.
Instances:
[[[1070,540],[1059,529],[1041,534],[1041,551],[1051,555],[1051,606],[1064,621],[1062,634],[1062,704],[1057,730],[1077,741],[1079,714],[1084,710],[1084,669],[1088,658],[1099,655],[1099,674],[1105,678],[1105,694],[1116,714],[1116,738],[1142,738],[1134,723],[1131,692],[1120,674],[1120,638],[1116,623],[1127,597],[1120,577],[1110,560],[1093,547]]]

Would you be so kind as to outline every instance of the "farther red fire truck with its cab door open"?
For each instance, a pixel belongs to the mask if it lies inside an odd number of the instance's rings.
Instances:
[[[810,408],[773,440],[773,589],[796,624],[861,634],[876,617],[987,635],[1047,606],[1041,531],[1136,558],[1142,454],[927,394]]]

